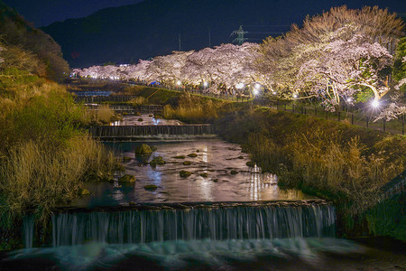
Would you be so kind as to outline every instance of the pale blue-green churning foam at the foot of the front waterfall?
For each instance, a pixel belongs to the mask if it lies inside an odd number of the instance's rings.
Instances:
[[[230,265],[243,270],[243,265],[256,269],[252,266],[258,268],[259,264],[269,270],[274,270],[272,266],[277,270],[287,270],[286,266],[294,267],[289,270],[331,270],[334,267],[320,253],[345,255],[364,251],[365,248],[354,242],[337,238],[193,239],[126,245],[91,242],[79,246],[31,248],[14,251],[9,258],[47,258],[62,270],[75,271],[97,267],[125,270],[130,266],[134,270],[152,270],[157,266],[171,270],[193,266],[216,269]],[[121,262],[124,262],[122,266]],[[278,263],[286,266],[277,268]]]

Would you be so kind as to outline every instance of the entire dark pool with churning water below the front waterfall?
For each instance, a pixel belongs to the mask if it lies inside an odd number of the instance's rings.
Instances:
[[[338,238],[171,240],[31,248],[9,253],[3,270],[405,270],[399,253]]]

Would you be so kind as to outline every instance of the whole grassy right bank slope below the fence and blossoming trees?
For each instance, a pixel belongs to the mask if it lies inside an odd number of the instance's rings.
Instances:
[[[373,230],[372,224],[363,225],[368,223],[365,211],[382,199],[383,184],[406,166],[405,136],[346,122],[259,107],[231,113],[217,126],[227,140],[243,145],[263,171],[276,173],[281,187],[333,201],[341,234],[362,235],[368,226]],[[401,238],[399,232],[392,236]]]

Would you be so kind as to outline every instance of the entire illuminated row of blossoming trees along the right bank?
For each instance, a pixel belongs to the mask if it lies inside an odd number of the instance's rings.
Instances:
[[[238,93],[247,85],[260,83],[280,98],[316,98],[334,111],[343,100],[366,101],[373,97],[376,102],[390,90],[404,89],[403,73],[393,76],[392,83],[388,72],[403,25],[396,14],[376,6],[361,10],[340,6],[306,18],[302,28],[293,24],[290,32],[269,37],[261,44],[173,51],[137,65],[93,66],[73,73],[148,84],[204,85],[204,91],[211,93]],[[401,98],[392,101],[387,103],[389,113],[383,110],[381,114],[387,119],[402,114],[405,108]]]

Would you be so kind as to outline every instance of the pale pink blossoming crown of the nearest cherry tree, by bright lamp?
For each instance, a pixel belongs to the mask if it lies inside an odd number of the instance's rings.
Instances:
[[[380,72],[392,64],[392,55],[378,42],[357,33],[355,25],[328,33],[319,43],[298,47],[293,50],[300,51],[295,60],[300,67],[296,88],[322,97],[332,106],[330,109],[339,104],[341,97],[353,98],[360,87],[371,90],[375,100],[390,89]]]

